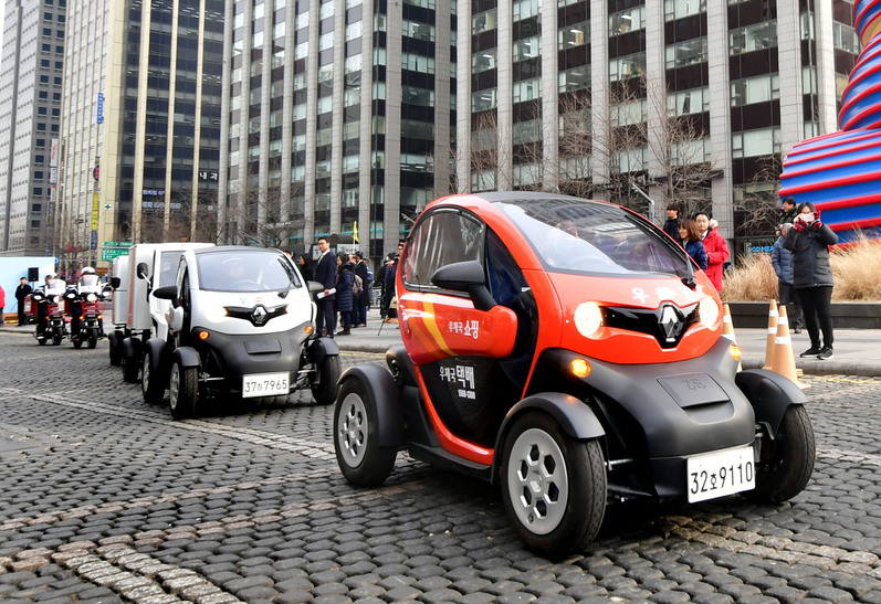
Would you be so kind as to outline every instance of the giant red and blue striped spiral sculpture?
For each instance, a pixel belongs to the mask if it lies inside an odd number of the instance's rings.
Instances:
[[[858,0],[853,22],[863,49],[841,96],[841,130],[796,145],[780,174],[780,197],[812,202],[839,243],[881,237],[881,0]]]

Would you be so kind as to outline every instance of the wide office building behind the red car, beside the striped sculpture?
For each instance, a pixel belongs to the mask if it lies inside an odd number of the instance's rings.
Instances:
[[[776,210],[793,145],[838,129],[849,0],[469,0],[458,7],[459,189],[677,202],[728,239]],[[651,202],[649,201],[651,200]]]

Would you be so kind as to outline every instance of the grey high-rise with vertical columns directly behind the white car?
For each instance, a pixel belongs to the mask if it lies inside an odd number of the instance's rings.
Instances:
[[[455,3],[229,2],[221,241],[373,257],[449,191]]]

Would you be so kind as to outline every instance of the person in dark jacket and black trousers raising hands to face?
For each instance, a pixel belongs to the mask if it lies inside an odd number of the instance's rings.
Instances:
[[[829,262],[829,246],[838,243],[838,235],[820,222],[820,212],[809,201],[798,204],[795,222],[791,226],[784,224],[783,229],[784,245],[793,252],[793,286],[801,300],[805,327],[810,336],[810,348],[801,357],[831,359],[835,340],[831,310],[835,282]]]

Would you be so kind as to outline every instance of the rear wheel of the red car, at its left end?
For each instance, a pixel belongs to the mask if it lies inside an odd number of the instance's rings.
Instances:
[[[381,485],[395,467],[397,447],[380,447],[373,389],[358,378],[340,384],[334,409],[334,449],[346,480],[355,487]]]

